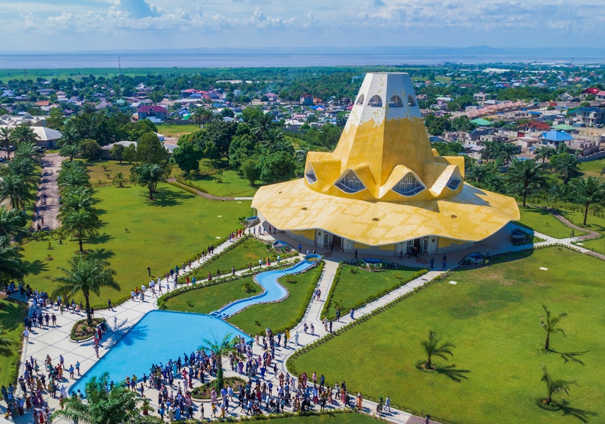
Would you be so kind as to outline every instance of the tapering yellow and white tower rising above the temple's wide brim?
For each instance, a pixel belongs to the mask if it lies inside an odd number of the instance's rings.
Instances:
[[[366,74],[333,153],[309,152],[308,187],[363,200],[408,202],[459,193],[463,158],[431,149],[408,74]]]

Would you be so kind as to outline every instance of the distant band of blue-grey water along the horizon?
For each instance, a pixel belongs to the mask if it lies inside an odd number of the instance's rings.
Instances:
[[[129,67],[303,67],[365,65],[437,65],[439,63],[603,63],[602,56],[505,56],[505,55],[389,55],[389,54],[202,54],[158,52],[151,54],[0,54],[0,69],[69,69]]]

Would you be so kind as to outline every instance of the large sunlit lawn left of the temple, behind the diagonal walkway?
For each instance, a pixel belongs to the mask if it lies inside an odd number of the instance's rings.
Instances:
[[[141,187],[118,189],[100,187],[96,190],[103,211],[101,235],[85,240],[85,249],[100,249],[117,271],[116,281],[122,289],[103,289],[100,296],[92,295],[94,307],[106,307],[107,299],[114,304],[129,297],[130,290],[148,282],[147,267],[154,276],[195,257],[197,253],[230,231],[241,228],[239,218],[249,216],[250,202],[217,202],[192,195],[168,184],[159,185],[157,200],[146,199],[148,192]],[[56,287],[52,277],[60,275],[58,266],[67,266],[67,259],[78,251],[75,240],[59,245],[52,240],[53,250],[47,250],[48,240],[28,242],[23,248],[25,264],[30,275],[25,283],[52,292]],[[47,255],[54,260],[47,261]],[[76,297],[78,301],[80,297]]]

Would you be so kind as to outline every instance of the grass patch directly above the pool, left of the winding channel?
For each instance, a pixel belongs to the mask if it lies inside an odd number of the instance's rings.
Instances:
[[[252,283],[254,291],[246,293],[242,289],[245,282]],[[254,283],[252,277],[235,279],[231,282],[215,284],[189,290],[166,301],[166,309],[179,310],[181,312],[197,312],[208,314],[226,304],[237,300],[261,294],[263,289]]]

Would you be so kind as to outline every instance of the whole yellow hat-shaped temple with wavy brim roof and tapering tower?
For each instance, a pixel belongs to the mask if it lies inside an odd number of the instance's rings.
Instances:
[[[309,151],[305,176],[261,187],[252,207],[294,240],[363,254],[432,255],[519,219],[516,201],[464,182],[464,158],[432,149],[412,81],[366,74],[338,146]]]

